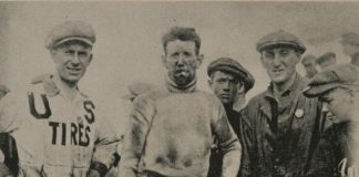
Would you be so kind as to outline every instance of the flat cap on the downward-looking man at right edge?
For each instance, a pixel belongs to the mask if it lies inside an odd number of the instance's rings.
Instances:
[[[304,90],[307,97],[319,96],[337,87],[359,91],[359,69],[352,64],[335,65],[318,73]]]

